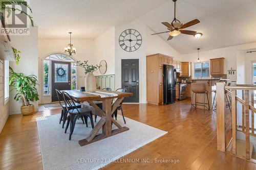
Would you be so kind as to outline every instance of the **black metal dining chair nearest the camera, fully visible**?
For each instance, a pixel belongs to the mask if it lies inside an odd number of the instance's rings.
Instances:
[[[74,132],[74,128],[75,128],[75,124],[76,124],[76,120],[78,117],[84,118],[85,122],[86,122],[86,127],[88,127],[88,117],[91,120],[91,125],[92,128],[94,128],[94,124],[93,124],[93,114],[92,114],[92,110],[91,110],[91,106],[87,106],[87,107],[83,107],[83,108],[77,108],[75,105],[75,102],[73,100],[73,98],[71,98],[71,96],[67,93],[67,92],[62,92],[63,94],[63,99],[64,99],[64,103],[67,109],[67,112],[69,113],[68,115],[68,122],[67,122],[67,126],[65,129],[65,133],[67,133],[67,130],[69,128],[69,124],[70,124],[70,134],[69,134],[69,140],[71,140],[71,136]],[[69,109],[72,108],[72,109]]]

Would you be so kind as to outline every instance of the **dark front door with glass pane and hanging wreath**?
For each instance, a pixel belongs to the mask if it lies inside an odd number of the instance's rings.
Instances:
[[[57,102],[57,90],[70,90],[71,63],[52,61],[52,102]]]

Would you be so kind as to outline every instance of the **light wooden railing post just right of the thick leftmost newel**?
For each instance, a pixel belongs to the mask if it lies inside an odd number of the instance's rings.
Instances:
[[[237,90],[231,90],[232,154],[237,155]]]

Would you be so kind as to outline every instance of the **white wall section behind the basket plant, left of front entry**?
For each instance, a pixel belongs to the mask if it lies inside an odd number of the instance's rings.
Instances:
[[[11,45],[20,50],[20,62],[10,62],[10,66],[16,72],[23,72],[25,75],[35,75],[38,77],[38,28],[31,27],[29,36],[11,36]],[[10,114],[20,113],[21,102],[14,101],[15,90],[10,93]],[[35,110],[38,110],[38,102],[33,103]]]

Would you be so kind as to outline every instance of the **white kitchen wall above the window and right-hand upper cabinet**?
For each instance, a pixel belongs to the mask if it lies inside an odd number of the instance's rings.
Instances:
[[[203,47],[201,47],[200,52],[200,60],[201,61],[208,61],[212,58],[225,58],[225,74],[227,74],[227,78],[231,81],[237,81],[237,71],[234,72],[234,75],[228,75],[228,69],[237,68],[237,57],[240,55],[239,51],[246,51],[256,47],[256,42],[248,43],[248,44],[241,44],[236,46],[230,46],[225,48],[218,48],[215,50],[203,51]],[[197,51],[195,49],[195,51]],[[182,61],[189,61],[189,62],[196,62],[198,58],[198,53],[191,53],[181,55]]]

